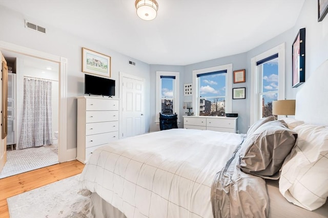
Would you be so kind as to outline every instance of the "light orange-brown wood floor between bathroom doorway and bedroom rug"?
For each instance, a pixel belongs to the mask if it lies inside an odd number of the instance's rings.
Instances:
[[[0,179],[0,217],[9,217],[7,198],[75,176],[84,166],[75,160]]]

